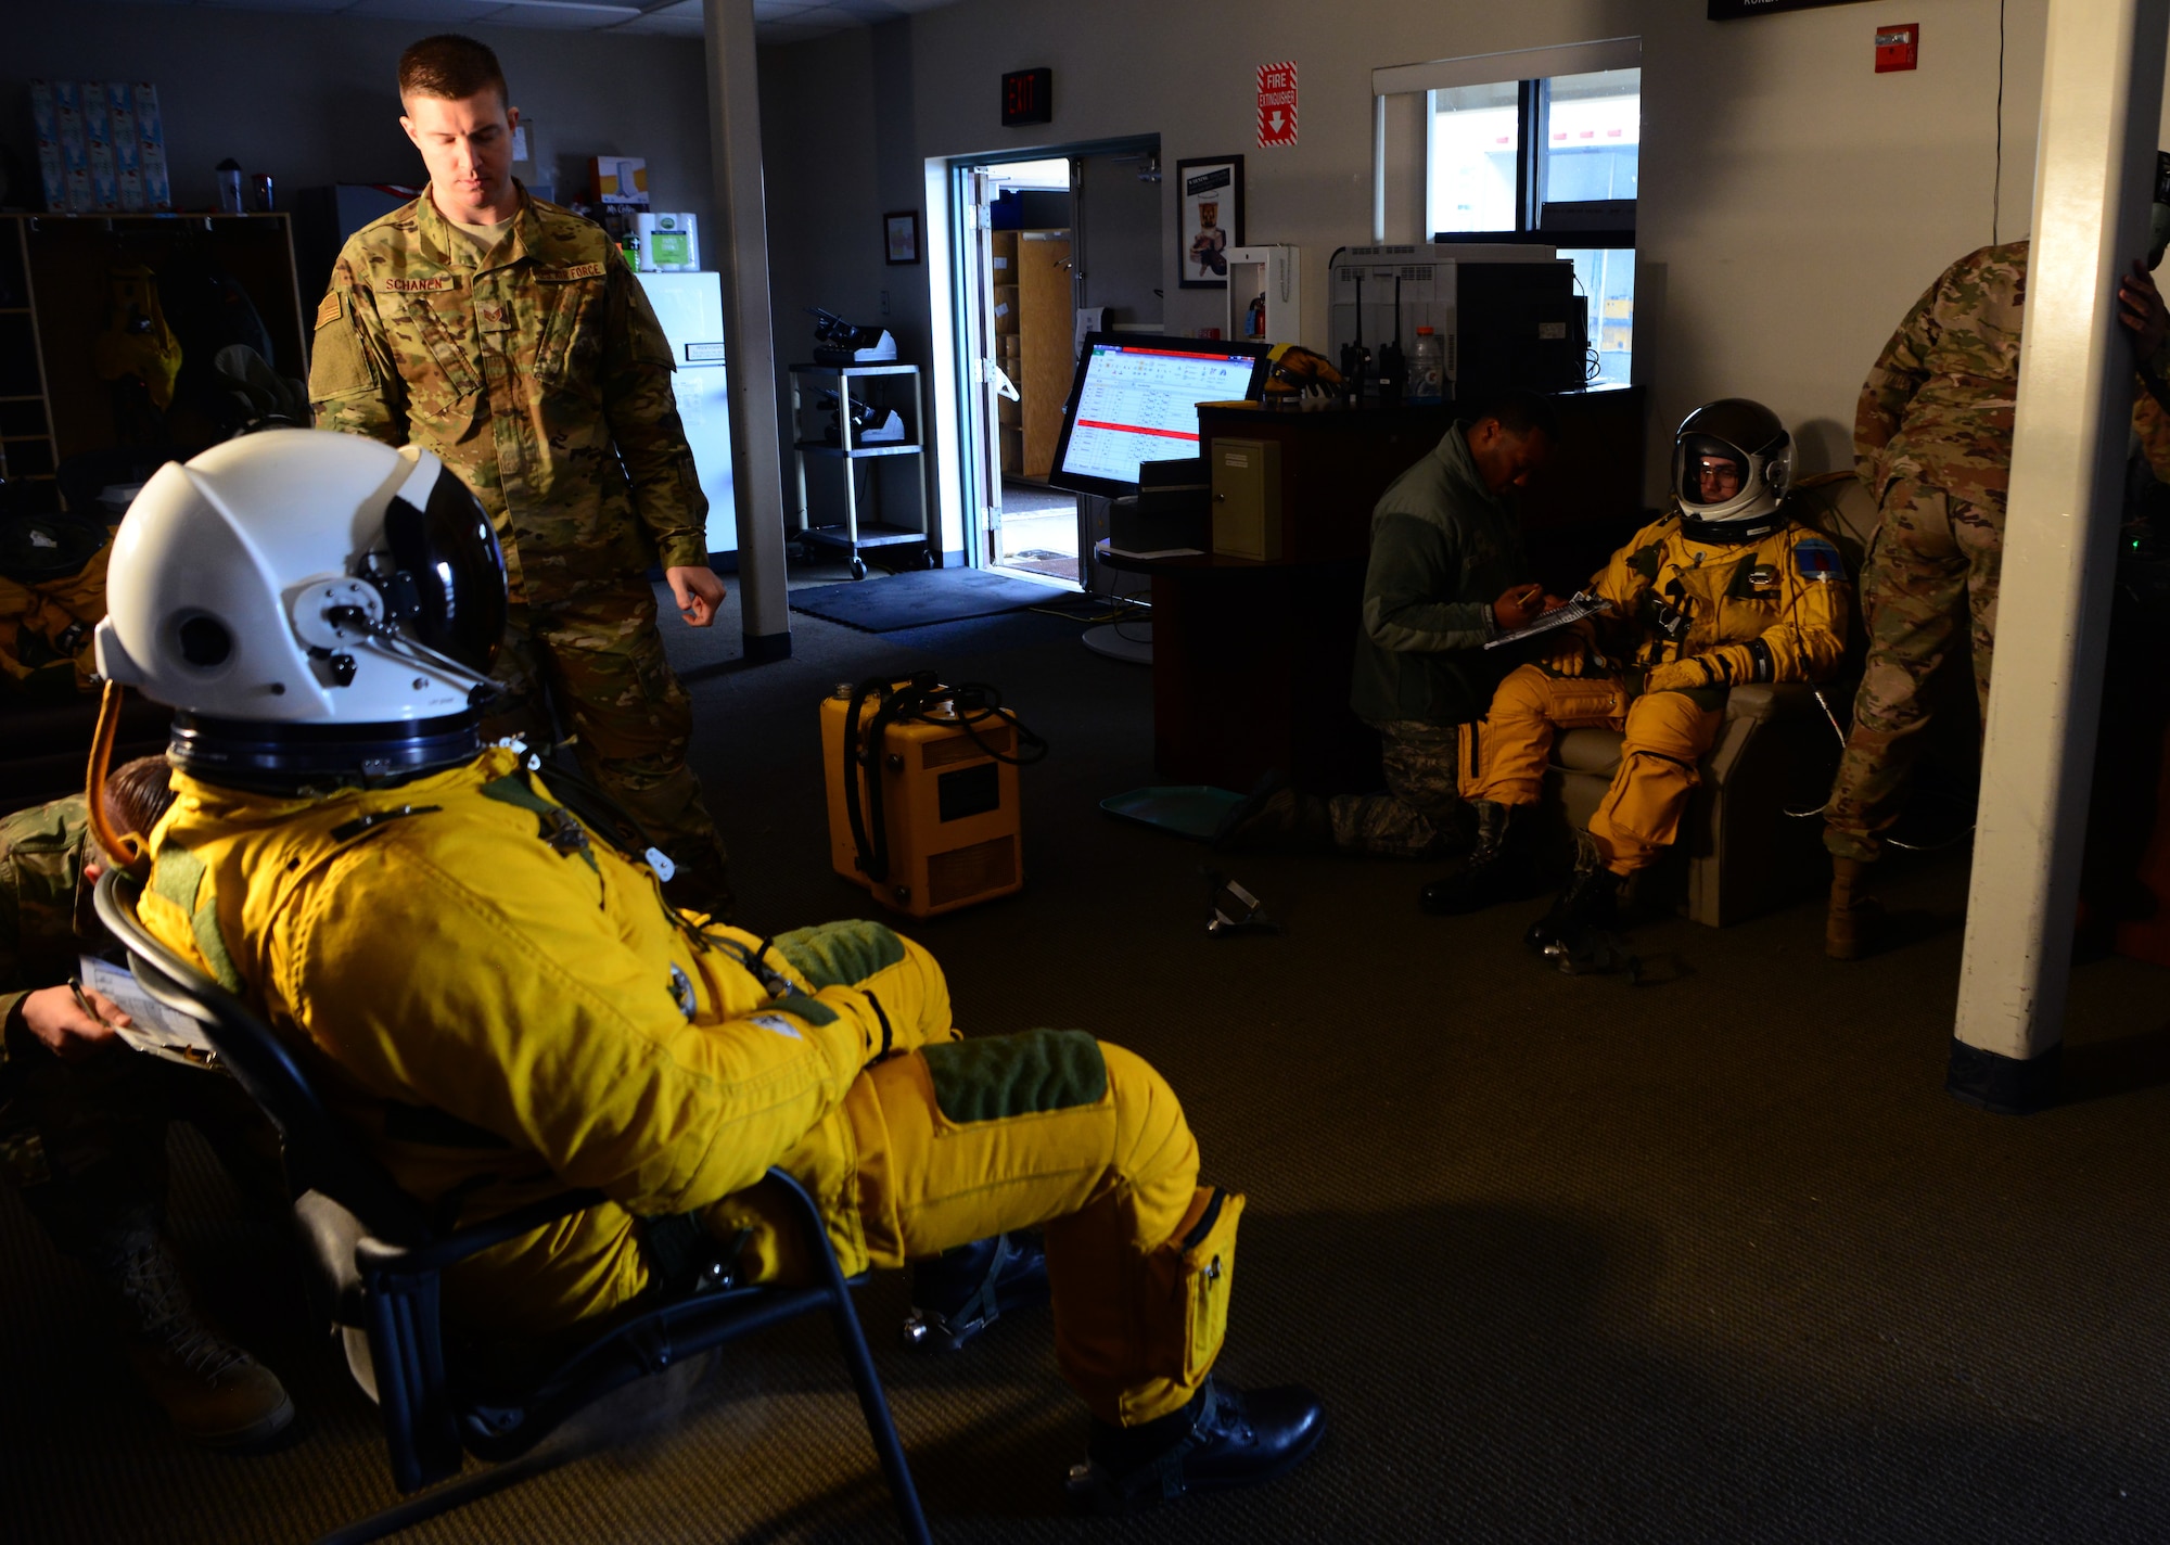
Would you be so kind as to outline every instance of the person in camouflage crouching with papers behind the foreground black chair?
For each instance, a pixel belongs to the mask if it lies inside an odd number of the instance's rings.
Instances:
[[[115,768],[106,807],[148,831],[174,803],[167,772],[165,757]],[[111,944],[91,914],[106,861],[80,794],[0,820],[0,1172],[52,1243],[89,1267],[176,1430],[252,1443],[293,1421],[293,1402],[189,1298],[163,1228],[165,1128],[193,1124],[243,1193],[284,1211],[278,1139],[230,1078],[130,1050],[113,1033],[128,1018],[65,985],[80,953]]]

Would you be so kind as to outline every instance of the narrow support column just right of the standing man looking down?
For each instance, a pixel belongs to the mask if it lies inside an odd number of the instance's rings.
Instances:
[[[768,323],[768,215],[762,195],[762,91],[753,0],[703,0],[707,124],[716,171],[723,336],[731,371],[731,493],[738,503],[738,599],[746,660],[792,653],[783,590],[783,460],[777,436],[777,349]]]

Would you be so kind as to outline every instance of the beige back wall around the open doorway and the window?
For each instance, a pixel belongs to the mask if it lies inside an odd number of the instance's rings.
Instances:
[[[1751,22],[1708,22],[1695,0],[961,0],[905,33],[870,76],[866,39],[764,50],[770,189],[820,180],[833,200],[773,221],[777,269],[875,241],[838,154],[870,137],[879,91],[911,115],[883,122],[881,165],[1159,135],[1161,158],[1241,152],[1248,239],[1304,247],[1304,334],[1322,341],[1326,258],[1371,234],[1371,69],[1608,37],[1643,39],[1638,373],[1654,393],[1649,493],[1671,425],[1721,395],[1769,401],[1803,440],[1803,471],[1844,464],[1853,397],[1899,317],[1953,258],[2029,228],[2048,0],[2009,0],[2003,176],[1996,189],[1996,7],[1873,0]],[[1873,72],[1873,33],[1920,22],[1920,69]],[[1256,143],[1256,67],[1298,63],[1302,141]],[[1055,69],[1055,122],[1005,130],[998,76]],[[818,89],[816,89],[818,87]],[[818,128],[853,122],[851,135]],[[905,139],[911,139],[907,145]],[[861,152],[864,154],[864,152]],[[1174,224],[1176,182],[1161,184]],[[914,200],[916,202],[916,200]],[[940,219],[940,210],[929,213]],[[864,234],[861,234],[864,232]],[[872,284],[872,269],[857,269]],[[892,271],[894,273],[894,271]],[[942,276],[920,273],[920,282]],[[1165,321],[1222,321],[1217,291],[1176,286],[1161,254]],[[894,289],[898,315],[922,317]]]

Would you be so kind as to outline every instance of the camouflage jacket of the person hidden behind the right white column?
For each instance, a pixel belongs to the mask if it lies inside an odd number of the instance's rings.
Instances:
[[[1853,412],[1853,454],[1879,499],[1892,480],[1912,477],[2003,510],[2025,302],[2025,241],[1960,258],[1914,302]],[[2155,360],[2157,375],[2163,365]],[[2170,477],[2170,417],[2137,380],[2133,430],[2155,475]]]

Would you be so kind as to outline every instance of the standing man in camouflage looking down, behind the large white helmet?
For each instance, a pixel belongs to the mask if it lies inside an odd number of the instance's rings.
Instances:
[[[679,905],[729,914],[723,840],[686,749],[692,701],[664,657],[649,564],[694,627],[723,584],[671,391],[671,345],[610,237],[510,176],[497,56],[432,37],[399,61],[401,124],[430,187],[339,254],[317,308],[317,425],[423,445],[482,499],[512,621],[486,733],[556,744],[677,866]]]

